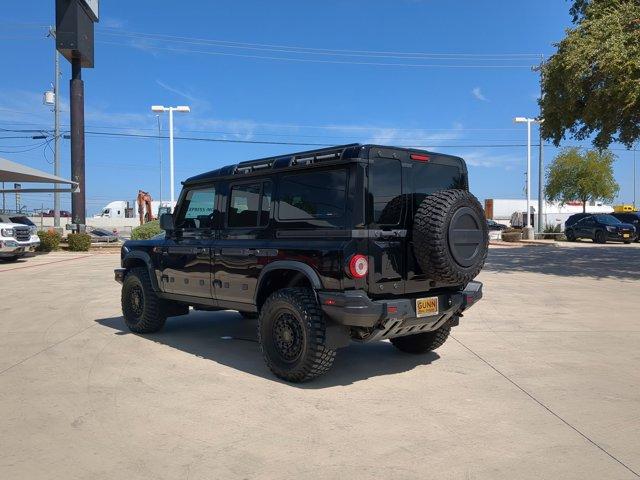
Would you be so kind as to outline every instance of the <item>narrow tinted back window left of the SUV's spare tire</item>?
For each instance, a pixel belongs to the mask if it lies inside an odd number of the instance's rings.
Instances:
[[[399,160],[375,159],[369,167],[373,223],[397,225],[402,214],[402,165]]]

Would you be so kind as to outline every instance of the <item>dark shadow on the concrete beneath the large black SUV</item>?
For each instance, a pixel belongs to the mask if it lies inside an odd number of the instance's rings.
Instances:
[[[116,330],[117,335],[135,335],[127,329],[122,317],[103,318],[96,322]],[[234,311],[191,311],[187,316],[167,320],[161,332],[139,336],[236,370],[303,389],[350,385],[371,377],[406,372],[440,358],[435,352],[424,355],[402,353],[389,342],[352,343],[338,351],[333,368],[324,376],[308,383],[290,384],[275,377],[265,365],[258,348],[256,329],[256,320],[243,319]]]

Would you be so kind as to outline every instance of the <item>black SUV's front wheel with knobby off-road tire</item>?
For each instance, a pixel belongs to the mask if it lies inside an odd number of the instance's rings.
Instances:
[[[140,296],[136,303],[134,296]],[[153,291],[149,272],[144,267],[132,268],[122,284],[122,315],[129,330],[135,333],[153,333],[167,320],[164,302]]]

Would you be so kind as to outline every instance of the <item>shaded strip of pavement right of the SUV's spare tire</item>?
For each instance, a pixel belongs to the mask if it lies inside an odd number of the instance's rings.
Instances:
[[[638,280],[640,248],[628,245],[491,248],[484,270]]]

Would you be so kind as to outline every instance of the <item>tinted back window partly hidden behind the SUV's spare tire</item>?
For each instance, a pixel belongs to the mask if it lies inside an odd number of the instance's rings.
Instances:
[[[427,195],[448,189],[467,188],[459,167],[437,163],[415,163],[411,169],[414,206],[417,209]]]

